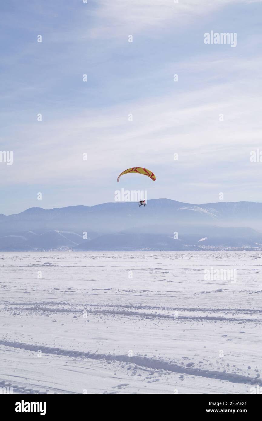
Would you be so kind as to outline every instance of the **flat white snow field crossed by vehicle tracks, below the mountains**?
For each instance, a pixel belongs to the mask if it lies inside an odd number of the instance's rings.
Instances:
[[[258,252],[0,253],[0,387],[251,393],[261,270]]]

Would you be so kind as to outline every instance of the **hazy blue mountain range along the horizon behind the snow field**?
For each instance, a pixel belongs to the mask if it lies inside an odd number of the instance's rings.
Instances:
[[[0,214],[1,251],[262,250],[262,203],[29,208]]]

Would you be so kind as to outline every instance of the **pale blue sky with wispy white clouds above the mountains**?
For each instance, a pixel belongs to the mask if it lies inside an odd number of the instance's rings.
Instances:
[[[261,1],[9,0],[0,12],[0,151],[13,153],[12,165],[0,155],[0,213],[114,202],[121,188],[262,202],[250,159],[262,155]],[[211,31],[236,45],[204,43]],[[134,166],[156,181],[117,183]]]

